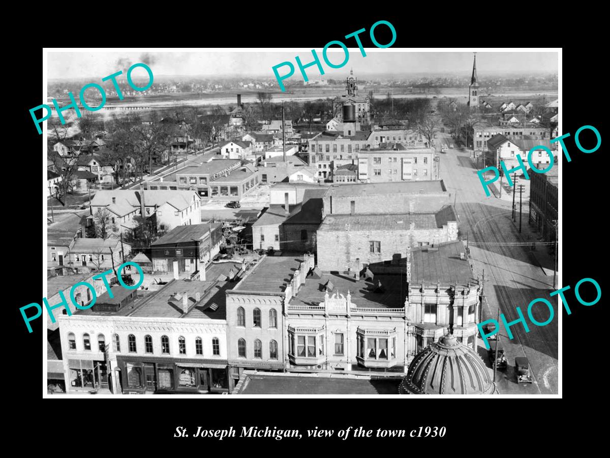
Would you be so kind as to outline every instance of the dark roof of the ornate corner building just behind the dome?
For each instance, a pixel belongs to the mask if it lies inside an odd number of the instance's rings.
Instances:
[[[460,259],[460,253],[466,252],[464,242],[438,244],[435,248],[417,247],[411,251],[411,283],[478,283],[468,259]]]

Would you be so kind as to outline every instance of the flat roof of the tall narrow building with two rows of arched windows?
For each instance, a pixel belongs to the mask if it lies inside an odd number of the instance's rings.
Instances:
[[[270,294],[283,293],[302,262],[302,258],[294,256],[266,256],[234,290]]]

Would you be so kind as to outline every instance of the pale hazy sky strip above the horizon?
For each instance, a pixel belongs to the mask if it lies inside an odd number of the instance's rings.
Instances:
[[[329,48],[333,49],[333,48]],[[311,62],[313,57],[309,49],[298,48],[295,51],[277,51],[270,49],[265,52],[245,52],[224,49],[215,51],[49,51],[48,78],[85,78],[95,81],[118,70],[126,71],[131,64],[144,62],[151,67],[153,75],[159,76],[267,76],[274,78],[271,67],[290,61],[295,65],[295,74],[299,74],[295,56],[301,58],[303,64]],[[343,68],[330,68],[322,58],[322,50],[316,49],[325,70],[326,78],[343,78],[346,70],[354,69],[357,75],[387,74],[400,75],[404,73],[470,73],[472,71],[472,52],[406,52],[398,49],[370,49],[363,57],[358,48],[350,48],[350,56]],[[334,64],[345,59],[342,51],[328,53],[328,58]],[[476,54],[477,72],[479,78],[486,72],[496,75],[501,72],[522,73],[556,73],[558,71],[557,52],[486,52]],[[138,68],[142,76],[145,70]],[[281,75],[288,67],[279,69]],[[317,68],[310,67],[307,74],[313,71],[319,78]],[[134,77],[138,75],[134,73]],[[310,76],[311,78],[311,76]]]

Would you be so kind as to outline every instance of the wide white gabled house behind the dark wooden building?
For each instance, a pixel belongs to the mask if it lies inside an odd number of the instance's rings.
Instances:
[[[196,191],[160,191],[115,189],[97,191],[91,200],[93,218],[98,211],[110,212],[115,233],[137,226],[134,216],[156,216],[162,230],[201,222],[201,197]]]

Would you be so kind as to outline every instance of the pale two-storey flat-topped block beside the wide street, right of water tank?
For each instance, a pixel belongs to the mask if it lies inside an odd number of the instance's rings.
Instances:
[[[434,148],[381,144],[358,154],[358,179],[366,183],[438,180],[439,164]]]

